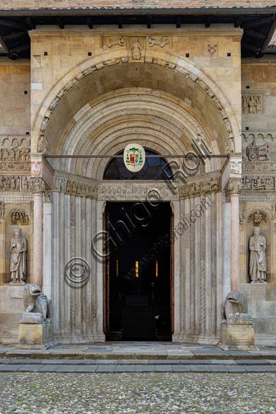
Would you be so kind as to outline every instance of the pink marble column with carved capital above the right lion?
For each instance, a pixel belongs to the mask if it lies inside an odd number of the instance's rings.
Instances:
[[[240,290],[240,220],[239,199],[241,180],[231,178],[228,182],[228,194],[231,199],[231,291]]]

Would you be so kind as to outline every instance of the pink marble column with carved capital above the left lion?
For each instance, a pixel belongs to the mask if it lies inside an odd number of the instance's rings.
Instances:
[[[45,184],[42,178],[33,178],[33,268],[32,283],[42,287],[42,243],[43,243],[43,191]]]

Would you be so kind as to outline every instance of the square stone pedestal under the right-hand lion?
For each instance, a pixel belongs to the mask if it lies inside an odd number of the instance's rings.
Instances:
[[[220,342],[217,345],[224,351],[258,351],[252,325],[220,325]]]

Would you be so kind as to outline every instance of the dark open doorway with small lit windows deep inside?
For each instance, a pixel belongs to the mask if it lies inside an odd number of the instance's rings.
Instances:
[[[108,341],[171,341],[171,208],[108,202],[105,333]]]

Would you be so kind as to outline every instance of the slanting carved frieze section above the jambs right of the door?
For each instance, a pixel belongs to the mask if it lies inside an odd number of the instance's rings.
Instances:
[[[220,177],[212,177],[179,186],[179,198],[191,198],[218,191],[221,191]]]

